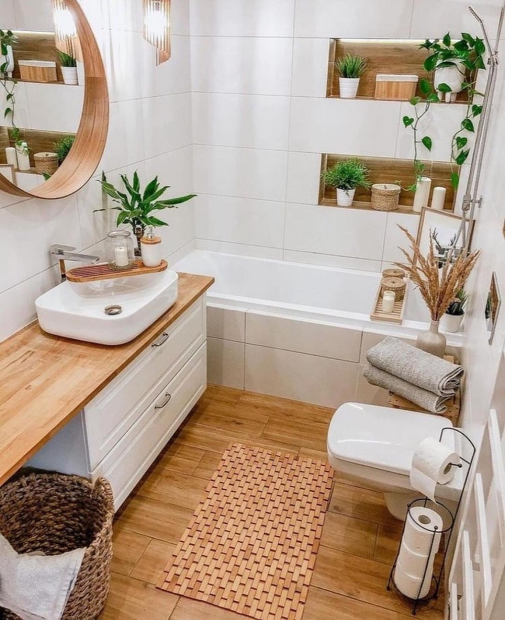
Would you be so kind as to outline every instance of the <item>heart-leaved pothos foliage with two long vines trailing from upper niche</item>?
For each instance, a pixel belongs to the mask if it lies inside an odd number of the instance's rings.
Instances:
[[[429,73],[436,71],[437,69],[444,69],[448,67],[458,67],[458,65],[465,68],[465,74],[470,76],[468,81],[464,81],[460,92],[466,92],[468,96],[467,109],[465,111],[465,117],[463,118],[460,128],[452,136],[450,144],[450,162],[458,167],[462,166],[467,161],[470,155],[470,146],[468,146],[467,133],[475,132],[475,119],[482,112],[482,105],[475,103],[475,97],[484,97],[481,92],[476,91],[476,79],[478,69],[486,69],[486,65],[483,60],[483,56],[486,51],[485,44],[482,39],[478,37],[472,37],[466,32],[462,33],[462,38],[456,42],[452,41],[450,33],[447,33],[442,40],[427,39],[420,46],[421,49],[425,49],[431,52],[431,54],[424,61],[424,69]],[[414,173],[416,179],[414,184],[407,189],[409,191],[416,190],[416,184],[418,179],[422,176],[424,171],[424,163],[419,159],[419,148],[424,146],[427,151],[431,151],[433,141],[430,136],[421,134],[421,120],[427,114],[432,104],[439,102],[438,92],[448,93],[452,92],[452,88],[449,84],[438,84],[437,91],[432,86],[431,82],[426,78],[421,79],[419,82],[419,90],[421,96],[413,97],[409,103],[414,108],[414,116],[406,115],[403,117],[403,125],[405,128],[411,128],[413,131],[414,139]],[[421,111],[419,106],[422,104]],[[457,190],[460,181],[460,175],[457,170],[452,170],[450,176],[450,182],[454,190]]]

